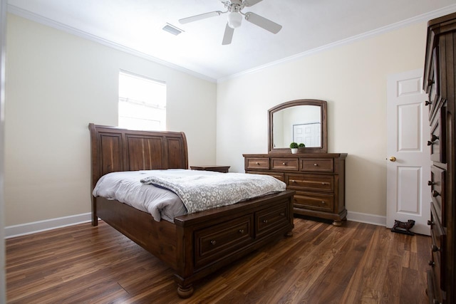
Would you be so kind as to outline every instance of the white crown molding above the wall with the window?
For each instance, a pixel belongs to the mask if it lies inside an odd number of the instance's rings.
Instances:
[[[163,61],[160,58],[156,58],[154,56],[147,55],[146,53],[142,53],[140,51],[136,51],[133,48],[128,48],[127,46],[123,46],[120,43],[115,43],[113,41],[109,41],[105,38],[101,38],[99,36],[95,36],[91,33],[87,33],[85,31],[81,31],[78,28],[73,28],[72,26],[67,26],[66,24],[60,23],[58,21],[54,21],[52,19],[48,19],[46,17],[40,16],[38,14],[34,14],[31,11],[26,11],[25,9],[21,9],[17,6],[13,6],[11,4],[8,4],[8,12],[11,14],[14,14],[16,16],[35,21],[37,23],[41,23],[45,26],[49,26],[51,28],[56,28],[60,31],[64,31],[66,33],[71,33],[72,35],[88,39],[90,41],[94,41],[96,43],[103,44],[103,46],[108,46],[110,48],[114,48],[115,50],[122,51],[124,53],[129,53],[130,55],[137,56],[140,58],[143,58],[147,61],[152,61],[154,63],[158,63],[160,65],[165,65],[167,68],[172,68],[173,70],[178,70],[182,73],[187,73],[189,75],[195,76],[197,78],[200,78],[202,80],[207,80],[211,83],[216,83],[217,80],[211,77],[208,77],[207,75],[202,75],[200,73],[197,73],[193,70],[189,70],[187,68],[183,68],[180,65],[175,65],[174,63],[170,63],[168,61]]]

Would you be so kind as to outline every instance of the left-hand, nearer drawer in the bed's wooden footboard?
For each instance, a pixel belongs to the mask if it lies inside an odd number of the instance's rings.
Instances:
[[[195,266],[206,266],[254,240],[254,215],[195,231]]]

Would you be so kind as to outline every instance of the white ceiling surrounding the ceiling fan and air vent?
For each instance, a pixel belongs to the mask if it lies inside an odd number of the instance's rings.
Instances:
[[[193,23],[179,19],[224,11],[219,0],[8,0],[9,12],[111,43],[141,56],[220,80],[324,46],[456,11],[456,0],[263,0],[244,13],[283,26],[277,34],[242,22],[222,46],[227,14]],[[162,31],[166,23],[184,32]]]

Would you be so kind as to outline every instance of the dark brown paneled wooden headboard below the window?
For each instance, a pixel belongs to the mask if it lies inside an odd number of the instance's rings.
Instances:
[[[135,131],[88,125],[92,189],[104,174],[150,169],[188,169],[184,132]]]

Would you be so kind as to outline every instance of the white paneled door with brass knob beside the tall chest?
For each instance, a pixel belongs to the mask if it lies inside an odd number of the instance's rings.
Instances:
[[[388,76],[386,226],[415,220],[411,231],[430,235],[430,138],[423,70]]]

